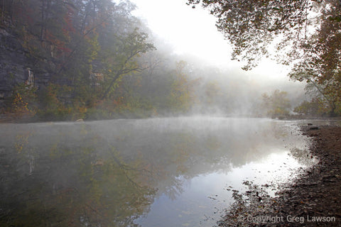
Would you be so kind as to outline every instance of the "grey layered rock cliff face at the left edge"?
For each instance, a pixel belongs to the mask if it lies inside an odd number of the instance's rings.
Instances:
[[[45,86],[51,78],[47,62],[33,59],[16,38],[0,28],[0,109],[6,107],[6,99],[18,84]]]

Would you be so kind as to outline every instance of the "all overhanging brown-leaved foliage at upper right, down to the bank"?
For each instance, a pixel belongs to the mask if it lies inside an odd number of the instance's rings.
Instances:
[[[307,91],[315,92],[312,105],[320,105],[330,116],[341,114],[339,0],[188,0],[188,4],[193,8],[201,4],[217,17],[218,30],[234,45],[232,57],[247,62],[244,70],[276,51],[279,62],[293,66],[291,79],[306,82]]]

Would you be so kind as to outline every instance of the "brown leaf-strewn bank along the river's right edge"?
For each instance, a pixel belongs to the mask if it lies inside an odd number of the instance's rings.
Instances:
[[[306,159],[317,162],[298,170],[275,197],[246,182],[249,190],[235,202],[218,226],[341,226],[341,127],[301,126],[311,140]]]

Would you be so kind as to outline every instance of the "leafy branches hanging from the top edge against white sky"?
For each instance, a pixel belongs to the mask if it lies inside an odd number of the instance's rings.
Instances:
[[[193,7],[200,2],[217,17],[218,30],[234,45],[232,57],[247,60],[244,70],[269,55],[275,38],[281,38],[278,49],[288,43],[301,45],[310,25],[309,13],[320,4],[318,0],[188,0]]]

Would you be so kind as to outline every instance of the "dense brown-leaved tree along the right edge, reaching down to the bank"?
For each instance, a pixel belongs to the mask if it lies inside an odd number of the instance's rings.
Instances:
[[[321,12],[320,28],[303,46],[304,55],[289,75],[307,82],[307,91],[317,91],[314,96],[324,100],[330,116],[335,116],[341,101],[340,1],[328,1],[328,6]]]

